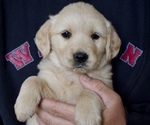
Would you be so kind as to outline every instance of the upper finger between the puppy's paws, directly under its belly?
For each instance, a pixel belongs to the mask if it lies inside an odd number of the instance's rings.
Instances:
[[[74,105],[62,103],[51,99],[43,99],[40,103],[40,108],[55,117],[60,117],[74,123]]]

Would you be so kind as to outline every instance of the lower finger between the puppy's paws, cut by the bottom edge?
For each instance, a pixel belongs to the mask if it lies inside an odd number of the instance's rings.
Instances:
[[[38,109],[37,115],[37,121],[40,125],[74,125],[70,121],[53,116],[44,111],[43,109]]]

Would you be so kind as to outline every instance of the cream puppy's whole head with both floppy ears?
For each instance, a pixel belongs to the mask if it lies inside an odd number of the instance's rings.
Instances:
[[[61,66],[82,73],[109,61],[120,48],[111,24],[93,6],[81,2],[51,16],[38,31],[36,43],[44,57],[53,54]]]

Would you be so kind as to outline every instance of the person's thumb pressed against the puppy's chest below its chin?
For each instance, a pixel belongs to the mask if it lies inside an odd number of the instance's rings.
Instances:
[[[106,104],[106,107],[110,106],[109,104],[113,105],[113,102],[116,103],[114,100],[119,98],[116,92],[100,80],[93,79],[87,75],[81,75],[80,82],[83,87],[95,91],[102,98],[104,104]]]

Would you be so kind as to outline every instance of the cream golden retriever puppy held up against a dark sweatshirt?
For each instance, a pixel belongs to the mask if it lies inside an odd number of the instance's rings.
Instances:
[[[119,52],[120,38],[111,23],[92,5],[73,3],[41,26],[36,45],[43,59],[38,76],[22,84],[15,104],[17,119],[38,125],[40,100],[53,98],[76,105],[76,125],[101,125],[104,104],[80,85],[79,76],[87,74],[112,88],[111,59]]]

